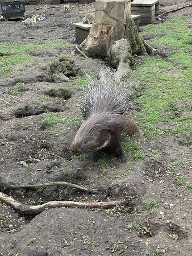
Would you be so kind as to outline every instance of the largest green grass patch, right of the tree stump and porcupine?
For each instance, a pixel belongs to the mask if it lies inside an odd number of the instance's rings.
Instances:
[[[148,139],[163,133],[185,133],[190,131],[191,105],[191,56],[190,31],[185,26],[188,18],[172,16],[163,23],[141,28],[142,34],[164,34],[151,43],[173,48],[172,56],[142,56],[143,64],[133,67],[139,81],[137,90],[143,95],[136,99],[141,111],[134,114],[143,134]],[[139,72],[137,72],[139,71]],[[182,102],[180,109],[174,108]],[[166,125],[163,125],[166,123]]]

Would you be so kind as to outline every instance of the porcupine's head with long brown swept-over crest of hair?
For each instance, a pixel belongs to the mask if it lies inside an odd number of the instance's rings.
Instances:
[[[72,142],[72,153],[75,155],[93,154],[119,142],[122,133],[130,137],[141,137],[139,127],[123,115],[101,112],[91,115],[80,129]]]

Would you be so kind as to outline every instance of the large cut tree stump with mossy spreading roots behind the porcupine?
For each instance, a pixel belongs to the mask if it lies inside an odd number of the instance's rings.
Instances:
[[[118,69],[118,79],[131,69],[133,55],[154,51],[131,18],[131,0],[96,0],[95,19],[80,49],[86,56],[107,59]]]

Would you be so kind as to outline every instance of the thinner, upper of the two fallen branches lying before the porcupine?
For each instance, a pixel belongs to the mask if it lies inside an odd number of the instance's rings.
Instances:
[[[65,182],[65,181],[55,181],[55,182],[42,183],[42,184],[31,184],[31,185],[9,185],[6,188],[39,188],[39,187],[47,187],[47,186],[53,186],[53,185],[63,185],[65,187],[77,188],[81,191],[86,191],[88,193],[99,193],[98,191],[89,190],[87,188],[81,187],[81,186],[73,184],[73,183]]]

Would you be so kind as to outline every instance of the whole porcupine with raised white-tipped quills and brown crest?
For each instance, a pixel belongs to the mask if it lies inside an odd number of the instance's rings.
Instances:
[[[120,145],[122,133],[141,138],[137,125],[127,118],[127,94],[122,86],[115,84],[112,71],[102,69],[99,79],[88,76],[89,85],[81,98],[81,111],[85,122],[72,142],[75,155],[93,154],[97,160],[102,155],[114,155],[120,162],[126,162]]]

